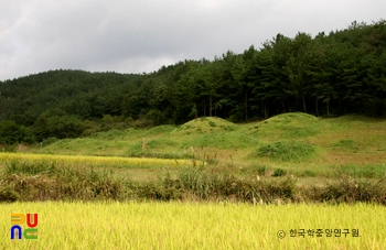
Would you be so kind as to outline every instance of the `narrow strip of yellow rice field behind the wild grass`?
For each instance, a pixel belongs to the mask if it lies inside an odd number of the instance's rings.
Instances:
[[[119,156],[86,156],[58,154],[23,154],[0,153],[0,164],[9,161],[28,161],[30,163],[44,162],[60,165],[114,166],[114,167],[162,167],[192,165],[189,160],[150,159],[150,157],[119,157]]]

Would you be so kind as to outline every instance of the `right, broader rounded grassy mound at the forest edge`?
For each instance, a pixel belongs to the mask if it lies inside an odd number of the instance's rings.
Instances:
[[[249,127],[250,134],[268,135],[272,139],[298,139],[320,132],[320,119],[302,112],[282,113]]]

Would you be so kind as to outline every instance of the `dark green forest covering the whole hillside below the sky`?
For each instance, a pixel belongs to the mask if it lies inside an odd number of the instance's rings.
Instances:
[[[151,74],[60,69],[0,81],[0,143],[24,140],[4,139],[15,129],[30,141],[78,137],[104,117],[161,124],[288,111],[386,116],[385,48],[385,20],[353,22],[314,37],[278,34],[260,48],[186,59]]]

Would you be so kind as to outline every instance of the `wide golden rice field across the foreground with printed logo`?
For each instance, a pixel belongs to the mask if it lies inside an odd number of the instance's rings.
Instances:
[[[386,209],[377,205],[50,202],[0,204],[0,249],[380,250],[386,247]],[[11,240],[14,213],[39,215],[36,240]],[[304,237],[300,229],[304,229]],[[320,237],[315,231],[313,236],[308,233],[315,229],[322,229]],[[335,235],[337,231],[328,237],[325,229],[341,229],[340,237]],[[343,233],[344,229],[350,233]],[[358,230],[358,237],[353,237],[353,229]]]

